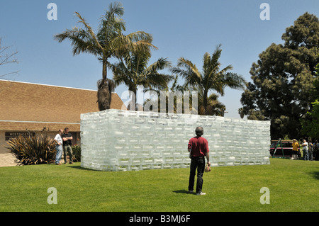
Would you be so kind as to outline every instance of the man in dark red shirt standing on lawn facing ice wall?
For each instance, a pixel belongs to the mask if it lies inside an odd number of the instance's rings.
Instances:
[[[206,193],[201,191],[203,187],[203,172],[205,169],[205,156],[208,162],[208,166],[211,166],[209,162],[209,149],[208,141],[201,137],[203,135],[203,128],[197,127],[195,130],[196,137],[189,140],[188,151],[191,157],[191,173],[189,175],[189,192],[194,191],[194,181],[197,169],[197,183],[196,183],[196,195],[203,196]]]

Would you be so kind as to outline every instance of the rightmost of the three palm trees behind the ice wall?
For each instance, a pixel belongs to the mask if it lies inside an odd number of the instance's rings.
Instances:
[[[185,86],[195,86],[198,93],[203,96],[203,115],[208,115],[209,106],[209,91],[216,91],[223,96],[225,87],[231,89],[245,89],[245,79],[235,73],[228,72],[233,69],[231,65],[220,70],[219,58],[222,50],[221,45],[216,47],[213,55],[208,52],[203,55],[203,71],[199,72],[198,68],[190,60],[184,57],[179,58],[177,67],[172,69],[172,72],[184,77]],[[199,94],[198,94],[199,95]]]

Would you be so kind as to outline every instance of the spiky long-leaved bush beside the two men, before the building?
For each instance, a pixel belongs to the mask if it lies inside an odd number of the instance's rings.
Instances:
[[[17,159],[18,164],[35,165],[55,162],[55,142],[45,135],[15,137],[7,142],[9,152]]]

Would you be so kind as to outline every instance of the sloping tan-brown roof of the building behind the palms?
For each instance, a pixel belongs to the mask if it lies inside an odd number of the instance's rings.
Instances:
[[[79,127],[81,113],[99,111],[96,96],[97,91],[89,89],[0,80],[0,130],[9,125],[26,130],[21,127],[26,123],[37,124],[37,128],[45,123]],[[118,94],[112,93],[111,108],[121,109],[122,105]]]

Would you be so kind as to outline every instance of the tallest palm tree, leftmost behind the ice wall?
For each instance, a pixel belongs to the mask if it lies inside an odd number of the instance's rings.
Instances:
[[[111,67],[111,57],[121,57],[127,50],[149,51],[150,48],[157,49],[152,45],[152,35],[138,31],[123,35],[125,21],[121,18],[124,9],[121,3],[113,3],[108,6],[105,16],[101,17],[97,33],[86,23],[84,18],[76,12],[84,28],[67,29],[65,32],[55,35],[55,40],[62,42],[65,39],[71,40],[73,55],[80,53],[91,53],[102,63],[102,79],[97,82],[99,110],[110,108],[111,92],[115,84],[107,78],[107,68]]]

